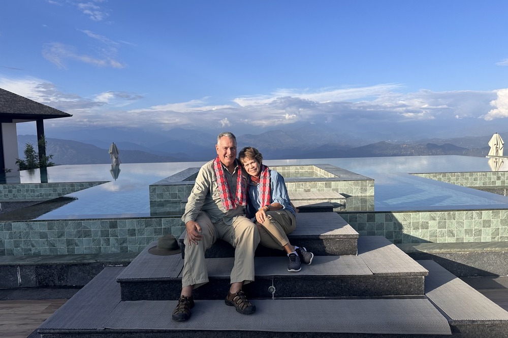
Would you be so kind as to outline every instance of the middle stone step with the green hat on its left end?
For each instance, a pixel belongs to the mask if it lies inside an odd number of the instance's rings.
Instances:
[[[155,256],[148,248],[118,276],[122,300],[176,299],[183,260]],[[307,248],[310,250],[310,248]],[[221,299],[228,291],[234,258],[209,258],[209,283],[197,299]],[[244,290],[255,298],[423,295],[427,270],[382,236],[358,240],[358,256],[314,256],[298,273],[287,271],[287,257],[256,257],[256,281]]]

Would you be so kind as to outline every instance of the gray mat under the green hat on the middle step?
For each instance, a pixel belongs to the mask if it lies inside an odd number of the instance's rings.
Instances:
[[[129,264],[129,266],[118,275],[117,280],[133,279],[161,279],[178,278],[183,268],[181,255],[152,255],[148,249],[157,245],[157,241],[148,245]]]

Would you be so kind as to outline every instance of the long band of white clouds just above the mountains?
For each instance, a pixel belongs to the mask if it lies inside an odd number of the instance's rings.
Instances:
[[[169,130],[174,127],[202,130],[234,127],[248,130],[252,127],[274,128],[304,122],[327,123],[337,130],[351,129],[353,126],[365,131],[368,128],[400,128],[402,122],[404,126],[408,125],[406,122],[414,122],[417,125],[415,130],[424,133],[428,128],[425,123],[433,123],[433,126],[438,124],[439,128],[446,129],[448,126],[458,127],[459,121],[478,121],[479,117],[489,121],[508,116],[508,89],[497,92],[420,90],[400,93],[398,85],[379,85],[344,89],[334,94],[330,90],[323,93],[314,91],[313,97],[327,98],[323,102],[312,100],[304,94],[300,97],[295,90],[279,90],[278,93],[293,93],[293,96],[270,96],[257,104],[249,100],[245,106],[227,103],[211,105],[210,98],[204,97],[142,108],[143,97],[136,93],[110,90],[81,97],[62,92],[52,83],[35,78],[0,77],[0,87],[73,115],[72,118],[54,122],[60,126],[99,128],[115,126],[121,121],[125,127],[150,130]],[[341,99],[331,99],[333,95]],[[345,100],[347,97],[352,99]],[[125,106],[134,102],[141,108],[125,109]]]

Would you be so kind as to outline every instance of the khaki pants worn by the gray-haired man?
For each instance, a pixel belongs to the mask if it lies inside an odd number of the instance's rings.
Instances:
[[[212,223],[208,215],[200,212],[196,222],[201,226],[203,239],[198,245],[189,245],[185,236],[185,260],[183,263],[182,287],[200,287],[208,282],[205,251],[217,239],[224,240],[235,248],[235,263],[231,271],[231,283],[250,283],[254,280],[254,252],[260,242],[258,229],[248,218],[235,217],[232,225],[223,221]]]

